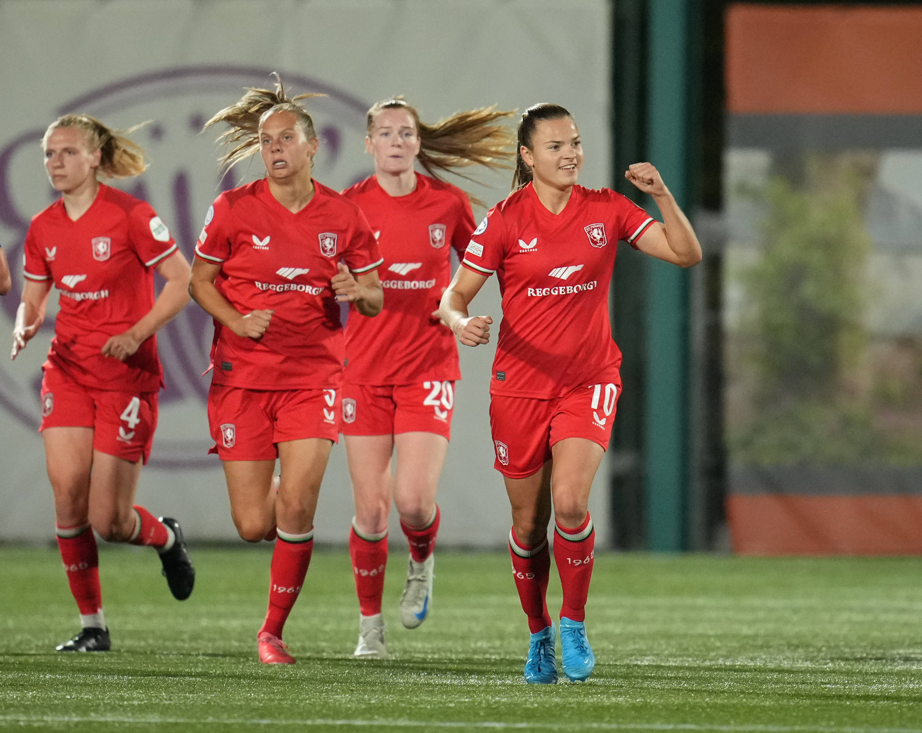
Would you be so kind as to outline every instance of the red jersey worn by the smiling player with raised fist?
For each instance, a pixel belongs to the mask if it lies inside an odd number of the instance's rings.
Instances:
[[[609,281],[618,241],[634,245],[653,223],[614,191],[574,185],[554,215],[531,183],[487,213],[462,265],[500,278],[502,326],[491,394],[550,399],[614,382]]]

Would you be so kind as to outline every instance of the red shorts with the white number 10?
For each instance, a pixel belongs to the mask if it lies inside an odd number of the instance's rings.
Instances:
[[[555,399],[491,396],[493,467],[510,479],[525,479],[550,460],[564,438],[585,438],[609,449],[621,382],[585,384]]]

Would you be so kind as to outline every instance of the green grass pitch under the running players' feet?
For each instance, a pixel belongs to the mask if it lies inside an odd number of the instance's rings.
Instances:
[[[256,661],[265,549],[194,550],[183,603],[152,551],[100,555],[112,652],[63,655],[53,646],[77,611],[57,552],[0,550],[0,728],[922,731],[919,559],[603,553],[587,608],[595,674],[529,686],[504,553],[438,553],[431,617],[412,632],[396,612],[406,556],[392,553],[395,654],[372,661],[351,656],[348,555],[316,551],[285,630],[294,667]]]

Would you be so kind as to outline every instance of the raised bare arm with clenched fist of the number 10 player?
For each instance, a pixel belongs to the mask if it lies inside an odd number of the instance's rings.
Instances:
[[[663,215],[664,223],[657,222],[641,234],[637,240],[637,249],[681,267],[691,267],[701,262],[701,244],[691,229],[691,222],[653,164],[634,163],[624,171],[624,177],[644,194],[652,195]]]

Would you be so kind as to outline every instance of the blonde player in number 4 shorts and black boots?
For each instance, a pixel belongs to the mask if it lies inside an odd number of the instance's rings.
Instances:
[[[189,264],[152,207],[98,180],[143,172],[144,151],[135,143],[89,115],[65,114],[41,146],[63,195],[26,235],[11,358],[38,332],[54,284],[61,302],[42,365],[40,431],[55,534],[82,626],[57,649],[107,651],[93,529],[109,542],[155,548],[177,599],[195,583],[179,523],[133,504],[163,385],[154,334],[189,301]],[[166,279],[156,301],[155,269]]]

